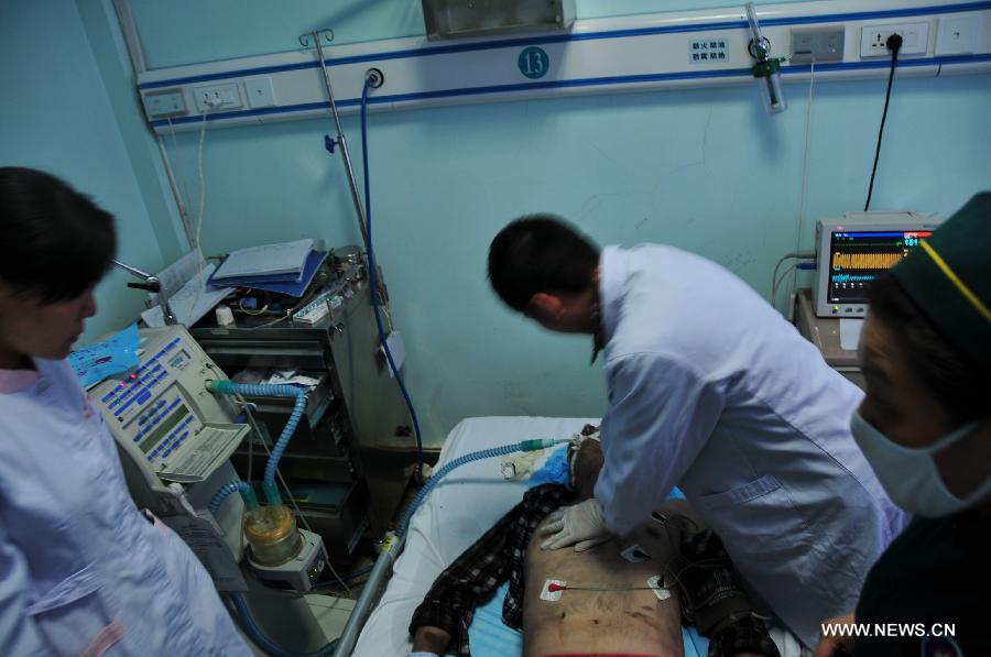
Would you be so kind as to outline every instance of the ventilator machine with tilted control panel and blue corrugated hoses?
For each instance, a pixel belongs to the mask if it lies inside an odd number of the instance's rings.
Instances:
[[[239,612],[250,607],[266,633],[292,649],[319,647],[325,638],[300,594],[323,572],[326,550],[319,535],[296,526],[275,479],[302,410],[271,448],[266,504],[229,460],[251,431],[242,423],[250,408],[238,396],[244,387],[293,396],[297,409],[306,391],[231,383],[182,326],[140,332],[140,365],[89,391],[117,441],[131,496],[189,544]]]

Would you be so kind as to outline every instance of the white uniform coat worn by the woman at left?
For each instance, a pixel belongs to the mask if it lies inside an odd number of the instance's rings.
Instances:
[[[0,372],[0,654],[251,655],[65,361]]]

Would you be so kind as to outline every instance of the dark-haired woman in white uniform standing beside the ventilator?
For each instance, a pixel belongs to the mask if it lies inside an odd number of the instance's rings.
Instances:
[[[112,217],[0,167],[0,654],[251,655],[185,543],[128,495],[65,362],[96,313]]]

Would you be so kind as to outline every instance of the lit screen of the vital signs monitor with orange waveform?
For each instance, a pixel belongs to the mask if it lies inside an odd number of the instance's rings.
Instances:
[[[871,281],[932,236],[918,231],[834,232],[829,244],[830,304],[865,304]]]

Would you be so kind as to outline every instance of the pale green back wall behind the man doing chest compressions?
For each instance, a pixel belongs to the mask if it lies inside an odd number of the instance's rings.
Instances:
[[[422,33],[417,2],[133,1],[160,67],[293,50],[316,26],[334,28],[341,43]],[[579,2],[585,17],[613,7],[671,4]],[[96,22],[86,20],[90,40]],[[97,57],[100,72],[120,77],[110,59]],[[672,243],[766,294],[774,262],[795,247],[807,91],[788,85],[791,108],[775,117],[751,86],[372,113],[375,244],[427,442],[467,416],[605,407],[588,340],[542,331],[488,288],[489,241],[516,215],[564,215],[601,243]],[[862,208],[883,91],[880,79],[816,85],[803,248],[815,218]],[[117,112],[132,111],[124,107]],[[991,186],[989,116],[991,76],[896,79],[873,208],[950,212]],[[208,131],[206,250],[301,236],[356,243],[340,161],[323,147],[330,128]],[[360,167],[357,118],[345,128]],[[166,140],[193,199],[197,138]]]

